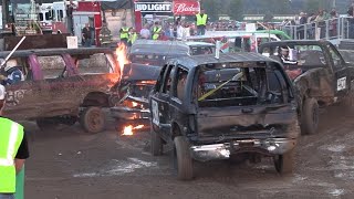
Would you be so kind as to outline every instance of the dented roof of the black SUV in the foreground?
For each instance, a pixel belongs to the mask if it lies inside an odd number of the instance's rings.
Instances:
[[[239,53],[221,53],[219,59],[214,55],[192,55],[169,60],[169,63],[180,64],[185,67],[192,69],[205,64],[217,63],[237,63],[237,62],[277,62],[272,59],[263,56],[259,53],[239,52]]]

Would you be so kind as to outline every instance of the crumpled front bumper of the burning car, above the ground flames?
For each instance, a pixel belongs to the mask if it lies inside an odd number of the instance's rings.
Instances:
[[[111,115],[117,119],[149,119],[150,112],[148,109],[129,108],[125,106],[115,106],[111,108]]]

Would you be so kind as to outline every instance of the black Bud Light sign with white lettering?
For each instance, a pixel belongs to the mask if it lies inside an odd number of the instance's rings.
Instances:
[[[171,3],[170,2],[136,2],[135,11],[144,12],[171,12]]]

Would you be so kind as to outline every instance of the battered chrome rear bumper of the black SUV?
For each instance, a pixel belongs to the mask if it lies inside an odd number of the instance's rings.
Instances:
[[[194,159],[200,161],[229,159],[231,155],[247,151],[261,153],[267,155],[282,155],[293,149],[296,139],[270,138],[270,139],[243,139],[223,144],[191,146]]]

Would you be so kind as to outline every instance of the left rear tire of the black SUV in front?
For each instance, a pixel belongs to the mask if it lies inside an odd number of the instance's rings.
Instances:
[[[177,177],[179,180],[191,180],[194,174],[189,144],[184,136],[175,137],[174,143],[177,156]]]

